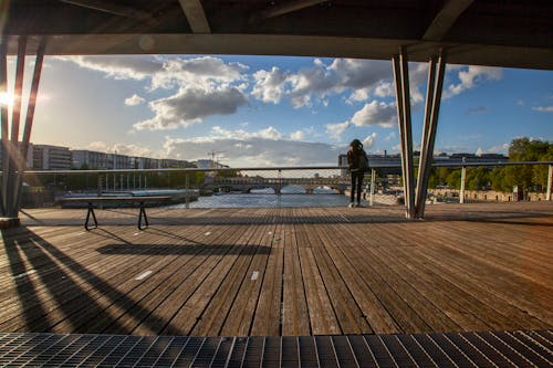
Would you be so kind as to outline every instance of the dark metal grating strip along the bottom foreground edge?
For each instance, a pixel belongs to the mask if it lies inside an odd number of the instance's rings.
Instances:
[[[0,334],[1,367],[552,365],[552,330],[314,337]]]

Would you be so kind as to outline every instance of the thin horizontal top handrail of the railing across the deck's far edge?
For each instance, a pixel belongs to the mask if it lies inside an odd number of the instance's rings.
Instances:
[[[479,167],[479,166],[520,166],[520,165],[553,165],[553,161],[498,161],[498,162],[432,162],[432,167]],[[400,162],[372,164],[371,168],[400,168]],[[347,170],[347,166],[276,166],[276,167],[239,167],[239,168],[157,168],[157,169],[98,169],[98,170],[27,170],[30,175],[82,175],[114,172],[210,172],[210,171],[300,171],[300,170]],[[2,172],[2,171],[0,171]]]

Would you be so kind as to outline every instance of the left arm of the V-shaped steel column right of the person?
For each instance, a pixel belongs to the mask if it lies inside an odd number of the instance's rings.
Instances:
[[[409,67],[407,57],[401,51],[393,57],[394,81],[396,84],[397,118],[399,140],[401,144],[401,174],[404,179],[405,215],[415,217],[413,133],[409,96]]]

